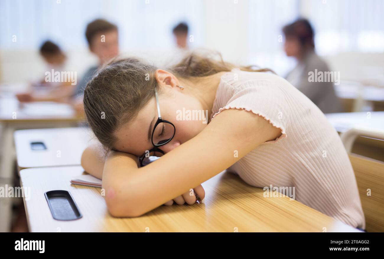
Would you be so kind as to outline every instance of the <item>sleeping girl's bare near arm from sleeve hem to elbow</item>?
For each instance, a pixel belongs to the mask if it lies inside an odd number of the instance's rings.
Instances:
[[[237,127],[228,126],[232,121]],[[236,163],[281,130],[261,116],[225,110],[201,133],[143,168],[137,157],[114,152],[103,172],[106,203],[113,216],[136,217],[187,192]],[[238,156],[234,156],[234,151]]]

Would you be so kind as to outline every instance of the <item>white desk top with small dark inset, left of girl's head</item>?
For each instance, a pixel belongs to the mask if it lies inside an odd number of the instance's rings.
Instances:
[[[17,130],[14,136],[20,168],[80,165],[81,154],[93,138],[82,127]],[[44,143],[46,149],[32,150],[33,142]]]

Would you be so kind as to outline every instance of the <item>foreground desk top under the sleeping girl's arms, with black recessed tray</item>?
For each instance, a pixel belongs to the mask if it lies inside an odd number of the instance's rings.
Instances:
[[[263,189],[222,172],[204,182],[205,203],[160,206],[141,217],[110,216],[101,188],[70,184],[81,166],[29,168],[20,171],[30,187],[24,204],[31,232],[359,232],[288,197],[264,198]],[[83,217],[53,219],[44,193],[68,190]],[[26,191],[28,193],[28,191]]]

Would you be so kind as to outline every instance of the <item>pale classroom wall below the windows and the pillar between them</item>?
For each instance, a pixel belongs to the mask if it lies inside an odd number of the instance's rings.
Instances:
[[[305,1],[300,4],[301,14],[308,14],[309,7]],[[202,19],[204,20],[204,45],[202,47],[218,50],[225,60],[247,65],[248,1],[209,0],[204,1]],[[225,28],[217,30],[217,28]],[[149,60],[167,60],[175,54],[167,51],[132,50],[124,55],[145,56]],[[70,50],[68,55],[68,71],[77,71],[81,78],[84,71],[97,63],[97,59],[86,46],[78,50]],[[324,57],[331,70],[340,71],[342,80],[379,81],[383,84],[384,53],[339,53]],[[2,83],[23,83],[40,79],[46,68],[37,50],[0,50],[0,75]],[[274,69],[272,67],[272,69]],[[275,70],[278,70],[275,68]],[[373,79],[372,79],[373,78]],[[379,78],[379,79],[374,79]]]

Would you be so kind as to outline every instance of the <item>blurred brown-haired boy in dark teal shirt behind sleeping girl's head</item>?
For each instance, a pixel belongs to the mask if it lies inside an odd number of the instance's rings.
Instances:
[[[119,54],[119,34],[118,27],[104,19],[96,19],[87,25],[85,37],[88,42],[89,50],[97,56],[98,64],[91,66],[79,81],[74,96],[81,99],[84,88],[89,80],[92,79],[99,66]]]

